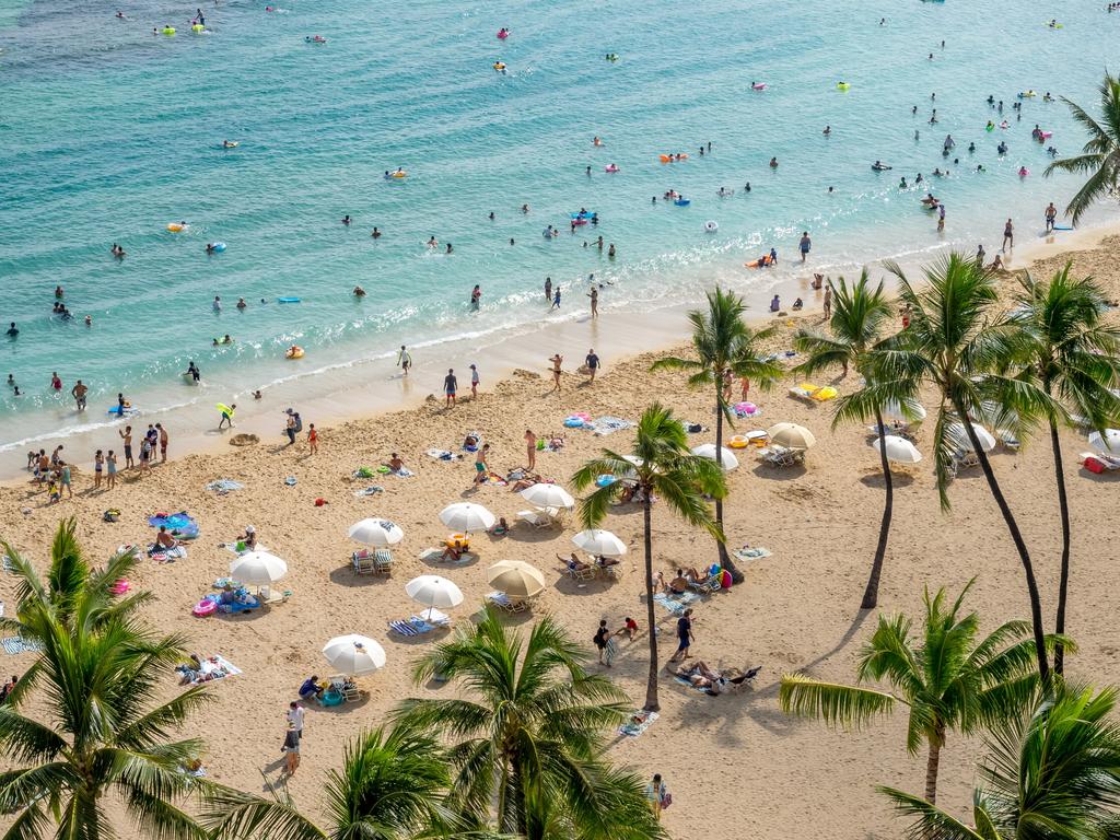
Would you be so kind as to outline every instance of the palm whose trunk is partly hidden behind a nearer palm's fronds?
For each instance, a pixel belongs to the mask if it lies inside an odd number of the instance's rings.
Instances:
[[[696,358],[670,356],[659,360],[652,370],[688,371],[689,386],[713,388],[716,391],[716,451],[724,451],[724,419],[731,422],[731,408],[726,399],[725,382],[728,377],[747,376],[755,386],[768,391],[782,375],[782,366],[760,358],[759,344],[774,335],[774,329],[752,329],[743,320],[746,312],[743,298],[716,287],[708,292],[708,311],[689,312],[692,324],[692,347]],[[724,500],[716,498],[716,524],[724,529]],[[727,544],[716,541],[719,564],[731,572],[736,584],[743,582],[743,572],[731,560]]]

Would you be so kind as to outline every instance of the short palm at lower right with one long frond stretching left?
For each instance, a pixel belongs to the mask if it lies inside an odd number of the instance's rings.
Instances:
[[[790,715],[821,718],[830,726],[860,727],[897,707],[909,710],[906,749],[928,745],[925,797],[937,797],[937,768],[950,729],[969,735],[1030,702],[1038,685],[1032,669],[1030,625],[1007,622],[980,638],[976,613],[961,616],[961,603],[972,581],[945,608],[945,590],[925,591],[921,637],[911,635],[905,615],[879,616],[879,624],[860,652],[856,685],[785,674],[778,702]],[[886,679],[892,690],[864,683]]]

